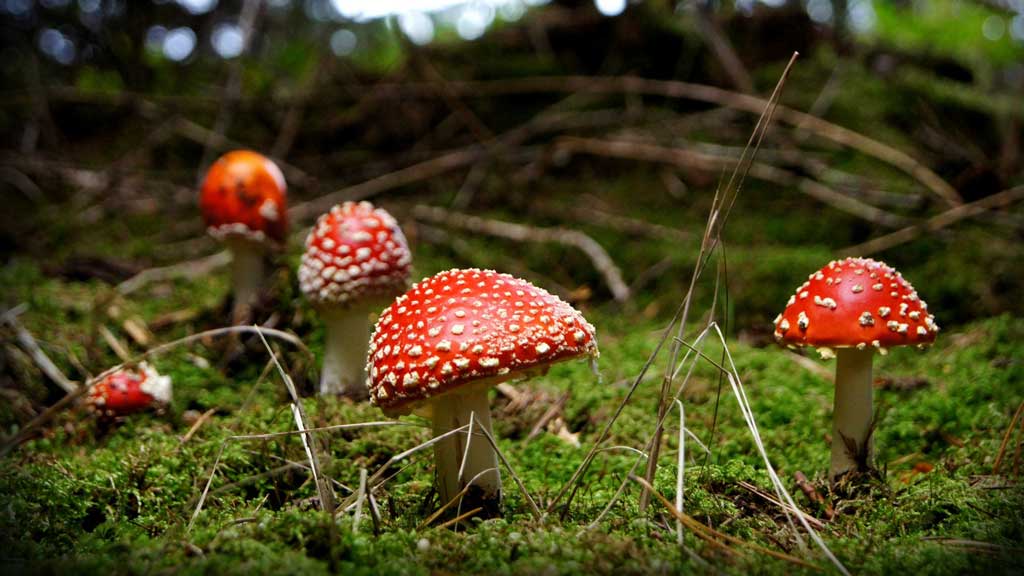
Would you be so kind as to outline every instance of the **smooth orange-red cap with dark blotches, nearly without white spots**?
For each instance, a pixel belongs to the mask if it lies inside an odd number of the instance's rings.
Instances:
[[[229,237],[280,245],[288,234],[288,187],[281,169],[265,156],[236,150],[210,166],[199,204],[207,231],[218,240]]]

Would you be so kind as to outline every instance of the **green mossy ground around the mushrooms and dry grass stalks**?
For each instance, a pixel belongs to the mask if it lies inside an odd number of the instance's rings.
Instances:
[[[684,217],[696,221],[697,210],[693,207],[694,213]],[[658,213],[654,205],[635,215],[656,221]],[[761,234],[752,231],[771,230],[772,221],[770,213],[751,209],[737,211],[730,222],[741,247],[730,245],[726,252],[730,293],[726,320],[731,323],[730,333],[739,329],[748,336],[743,341],[730,338],[728,344],[772,462],[797,501],[821,517],[823,510],[797,489],[794,472],[803,470],[820,487],[824,485],[831,384],[800,366],[790,353],[773,345],[761,347],[763,338],[749,325],[752,319],[767,322],[769,311],[784,302],[800,278],[796,271],[820,265],[828,249],[824,244],[800,247],[796,239],[790,245],[760,245]],[[673,222],[666,218],[664,223]],[[500,446],[542,506],[571,476],[656,345],[665,317],[678,302],[678,288],[694,258],[690,247],[615,238],[597,229],[591,232],[613,246],[617,255],[631,255],[623,259],[627,274],[638,274],[666,253],[672,254],[672,271],[626,307],[580,302],[598,327],[599,375],[584,364],[559,365],[544,377],[519,384],[537,398],[527,409],[509,413],[508,400],[495,399]],[[846,241],[838,240],[840,244]],[[480,254],[479,261],[453,259],[444,246],[424,244],[417,250],[417,272],[426,275],[467,263],[503,268],[509,258],[496,249],[496,242],[468,242],[473,253]],[[108,250],[96,241],[95,246],[79,245],[77,253]],[[144,246],[141,250],[133,255],[144,256]],[[541,261],[551,253],[527,247],[520,256],[527,262]],[[547,270],[558,283],[568,282],[569,276],[561,275],[570,266],[587,274],[585,261],[573,261],[578,255],[558,256],[566,260],[562,266],[536,270]],[[297,248],[293,248],[285,261],[294,266],[296,258]],[[923,262],[906,273],[926,297],[958,290],[959,281],[938,273],[940,282],[928,285],[932,268],[943,270],[941,264]],[[10,294],[29,306],[22,322],[70,373],[81,377],[65,360],[72,355],[92,366],[116,362],[101,343],[87,336],[96,323],[117,328],[102,306],[94,305],[109,301],[108,286],[53,279],[27,258],[13,260],[0,274]],[[278,280],[285,326],[318,355],[317,323],[294,289],[288,288],[288,273],[282,271]],[[591,279],[595,288],[599,282]],[[225,289],[224,279],[211,275],[157,285],[115,301],[123,314],[146,321],[175,310],[201,311],[196,319],[158,333],[159,339],[170,340],[215,326]],[[697,301],[710,301],[712,292],[705,287]],[[932,310],[941,319],[941,304],[933,304]],[[963,313],[963,308],[956,311]],[[876,398],[878,461],[884,480],[856,497],[837,499],[839,516],[822,531],[826,544],[851,570],[958,573],[1024,567],[1020,560],[1024,494],[1012,477],[989,476],[1010,417],[1024,400],[1022,341],[1024,321],[1002,315],[956,325],[926,353],[897,349],[879,359],[880,378],[895,382],[880,386]],[[279,351],[300,384],[308,387],[314,370],[287,344]],[[795,569],[739,548],[723,554],[687,535],[686,548],[695,552],[690,556],[676,544],[670,530],[674,525],[663,509],[654,506],[647,513],[639,511],[635,485],[610,513],[588,529],[636,458],[624,450],[602,452],[571,503],[558,508],[544,524],[531,519],[506,475],[502,520],[459,531],[419,528],[437,506],[427,451],[400,471],[396,466],[397,475],[378,492],[380,526],[375,527],[364,513],[355,530],[352,516],[345,513],[332,529],[315,509],[316,492],[307,471],[294,465],[283,468],[289,461],[305,462],[297,438],[227,440],[237,434],[290,430],[294,421],[276,374],[264,373],[268,357],[260,347],[251,346],[225,370],[218,367],[222,352],[217,342],[194,344],[154,360],[174,379],[174,402],[166,414],[140,415],[108,427],[84,411],[69,411],[47,425],[42,438],[7,456],[0,469],[0,492],[5,494],[0,510],[4,565],[31,572],[76,573],[573,574],[689,569],[787,573]],[[711,342],[706,353],[720,358],[721,346]],[[612,428],[608,446],[642,447],[646,442],[664,365],[663,354]],[[829,364],[821,365],[831,369]],[[23,368],[27,397],[54,396],[29,367]],[[920,381],[900,385],[912,378]],[[722,386],[714,368],[700,363],[683,396],[687,427],[711,449],[708,456],[695,442],[687,444],[687,511],[733,536],[826,567],[813,547],[800,551],[794,532],[776,507],[739,485],[745,481],[770,491],[734,396],[727,384]],[[527,442],[528,431],[548,404],[565,392],[570,396],[563,419],[567,429],[579,434],[583,448],[548,433]],[[316,398],[304,402],[311,425],[383,419],[366,405]],[[182,443],[189,427],[185,411],[210,409],[215,414]],[[18,419],[13,410],[11,405],[3,413],[10,431],[16,429]],[[340,496],[357,485],[360,468],[372,472],[390,456],[429,438],[424,422],[407,420],[420,425],[322,436],[326,474],[348,487],[338,488]],[[658,490],[670,499],[675,492],[677,421],[675,415],[669,419],[656,478]],[[1015,446],[1011,445],[1006,471],[1017,465]],[[186,530],[218,453],[210,496],[193,529]],[[987,547],[956,543],[969,540],[986,542]]]

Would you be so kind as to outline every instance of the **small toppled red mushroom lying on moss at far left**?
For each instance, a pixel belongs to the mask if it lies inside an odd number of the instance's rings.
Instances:
[[[171,402],[171,377],[141,362],[137,369],[122,368],[89,387],[86,405],[108,418],[126,416]]]

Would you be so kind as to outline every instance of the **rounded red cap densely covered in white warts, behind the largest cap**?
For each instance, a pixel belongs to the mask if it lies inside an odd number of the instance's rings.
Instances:
[[[306,237],[299,287],[321,306],[390,300],[408,286],[412,259],[391,214],[369,202],[345,202],[322,215]]]

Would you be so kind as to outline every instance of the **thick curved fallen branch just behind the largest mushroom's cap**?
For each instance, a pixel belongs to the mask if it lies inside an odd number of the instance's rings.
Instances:
[[[615,300],[623,302],[630,297],[630,288],[623,281],[622,272],[611,256],[597,241],[578,230],[527,227],[450,212],[443,208],[423,204],[418,204],[413,208],[413,216],[418,220],[518,242],[551,242],[575,247],[587,254],[597,272],[604,277],[604,281]]]

